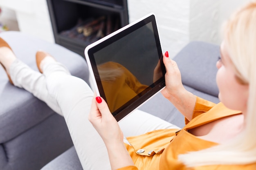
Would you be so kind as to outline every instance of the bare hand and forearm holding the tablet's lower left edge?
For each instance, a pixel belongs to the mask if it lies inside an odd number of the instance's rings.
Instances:
[[[112,170],[134,166],[124,145],[123,132],[116,119],[110,113],[108,105],[104,99],[101,97],[94,97],[88,119],[106,145]]]

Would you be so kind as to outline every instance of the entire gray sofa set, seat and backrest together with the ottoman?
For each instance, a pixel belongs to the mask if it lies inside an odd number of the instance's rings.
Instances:
[[[88,82],[88,68],[80,55],[30,35],[0,33],[20,60],[38,70],[38,49],[51,53],[71,71]],[[219,46],[191,42],[174,60],[182,73],[184,86],[200,97],[218,102],[215,63]],[[159,93],[139,109],[177,126],[184,117]],[[0,68],[0,170],[82,170],[65,120],[27,91],[9,84]]]

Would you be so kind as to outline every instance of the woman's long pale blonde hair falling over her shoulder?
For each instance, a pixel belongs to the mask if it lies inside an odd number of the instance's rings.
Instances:
[[[245,128],[227,144],[179,155],[188,167],[256,162],[256,1],[231,16],[225,24],[224,41],[238,78],[249,84]]]

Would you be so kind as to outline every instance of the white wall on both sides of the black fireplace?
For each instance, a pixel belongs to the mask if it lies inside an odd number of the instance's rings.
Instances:
[[[162,50],[173,57],[193,40],[220,44],[222,22],[246,2],[249,0],[128,0],[128,12],[130,22],[154,12]],[[0,0],[0,7],[16,12],[20,31],[54,42],[46,0]]]

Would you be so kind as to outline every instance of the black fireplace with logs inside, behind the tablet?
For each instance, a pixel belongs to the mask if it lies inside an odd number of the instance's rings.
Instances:
[[[128,24],[127,0],[47,0],[56,44],[84,57],[86,46]]]

